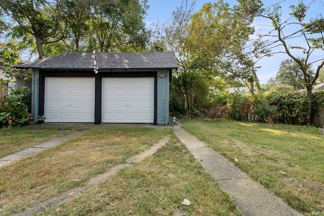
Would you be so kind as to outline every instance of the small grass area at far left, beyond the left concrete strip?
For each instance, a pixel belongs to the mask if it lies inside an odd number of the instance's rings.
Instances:
[[[0,129],[0,158],[27,149],[39,143],[44,143],[55,137],[73,133],[75,127],[17,127]]]

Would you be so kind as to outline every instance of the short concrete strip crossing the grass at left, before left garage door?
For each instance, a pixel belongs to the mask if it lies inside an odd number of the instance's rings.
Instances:
[[[41,143],[41,144],[35,145],[33,147],[30,147],[28,149],[16,152],[14,154],[7,155],[7,156],[5,156],[3,158],[0,158],[0,167],[5,165],[5,164],[8,164],[11,161],[27,157],[27,156],[29,156],[31,154],[35,154],[35,153],[38,153],[38,152],[45,151],[45,150],[47,150],[49,148],[53,148],[53,147],[55,147],[57,145],[65,143],[65,142],[67,142],[67,141],[69,141],[71,139],[79,137],[81,134],[82,134],[82,132],[73,132],[70,135],[67,135],[67,136],[64,136],[64,137],[59,137],[59,138],[53,138],[52,140],[47,141],[45,143]]]

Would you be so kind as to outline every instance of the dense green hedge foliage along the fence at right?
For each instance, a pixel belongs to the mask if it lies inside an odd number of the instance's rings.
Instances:
[[[313,93],[312,105],[312,124],[323,127],[324,91]],[[219,94],[214,96],[208,106],[200,109],[200,116],[305,125],[307,108],[306,94],[299,92],[270,92],[258,96],[258,99],[246,95]]]

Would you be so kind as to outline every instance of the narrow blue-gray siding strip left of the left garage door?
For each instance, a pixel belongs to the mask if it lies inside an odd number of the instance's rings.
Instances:
[[[31,81],[31,117],[33,121],[38,116],[38,93],[39,93],[39,70],[32,70],[32,81]]]

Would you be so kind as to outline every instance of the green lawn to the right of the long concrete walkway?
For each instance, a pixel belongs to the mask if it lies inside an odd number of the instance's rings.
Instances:
[[[181,124],[295,209],[323,212],[324,136],[318,128],[228,120]]]

